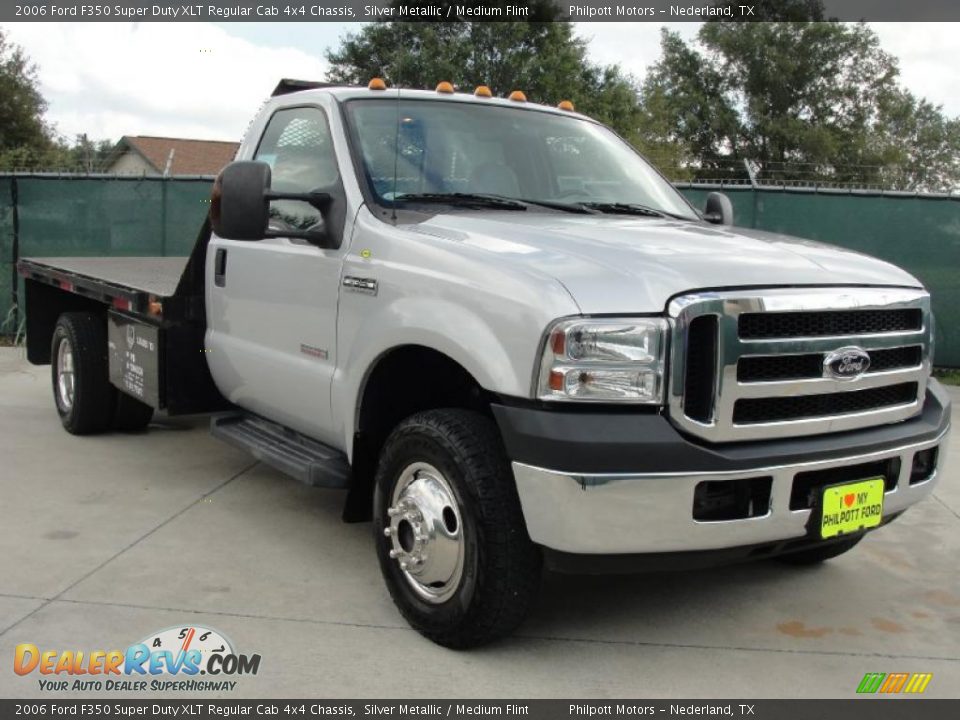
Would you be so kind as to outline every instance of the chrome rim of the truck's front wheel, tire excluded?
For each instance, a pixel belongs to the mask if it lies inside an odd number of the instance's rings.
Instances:
[[[449,600],[463,577],[460,507],[449,481],[429,463],[400,473],[383,534],[411,589],[429,603]]]

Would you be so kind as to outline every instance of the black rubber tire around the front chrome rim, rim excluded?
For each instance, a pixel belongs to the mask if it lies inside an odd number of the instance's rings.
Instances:
[[[405,469],[428,463],[455,496],[462,532],[459,581],[448,599],[426,601],[390,557],[387,509]],[[542,557],[527,535],[513,473],[493,421],[466,410],[428,410],[404,420],[384,445],[374,491],[380,570],[400,613],[433,642],[483,645],[510,634],[540,587]],[[446,515],[444,515],[446,517]]]

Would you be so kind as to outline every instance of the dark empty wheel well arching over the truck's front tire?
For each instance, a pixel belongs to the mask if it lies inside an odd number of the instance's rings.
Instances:
[[[421,345],[383,355],[370,372],[357,409],[348,522],[369,520],[380,449],[390,431],[421,410],[463,408],[490,414],[490,395],[458,362]]]

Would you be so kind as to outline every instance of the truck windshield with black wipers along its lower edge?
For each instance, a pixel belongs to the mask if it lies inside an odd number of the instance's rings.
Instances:
[[[352,100],[347,119],[378,203],[464,195],[696,220],[633,148],[593,122],[502,105]],[[399,110],[399,112],[398,112]],[[397,121],[399,120],[399,128]],[[496,208],[495,203],[489,205]],[[633,208],[633,211],[630,208]],[[621,210],[617,210],[621,208]]]

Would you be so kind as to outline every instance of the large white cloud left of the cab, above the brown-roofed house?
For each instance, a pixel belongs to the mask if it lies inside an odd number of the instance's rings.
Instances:
[[[40,68],[48,116],[69,138],[237,139],[281,77],[322,78],[326,62],[263,47],[210,23],[17,23]]]

